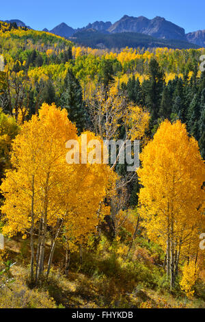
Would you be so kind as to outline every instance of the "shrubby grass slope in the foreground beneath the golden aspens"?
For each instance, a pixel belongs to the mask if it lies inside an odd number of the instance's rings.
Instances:
[[[193,300],[186,299],[179,288],[169,293],[159,247],[138,238],[128,259],[127,249],[123,243],[111,245],[102,238],[95,251],[84,250],[82,265],[79,253],[72,253],[66,278],[64,251],[59,247],[49,280],[30,289],[29,240],[6,240],[4,256],[16,262],[10,271],[15,282],[1,291],[0,308],[205,308],[203,293]]]

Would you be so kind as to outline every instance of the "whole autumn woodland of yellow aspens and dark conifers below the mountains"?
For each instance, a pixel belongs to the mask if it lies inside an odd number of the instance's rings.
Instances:
[[[203,54],[0,23],[0,308],[205,307]],[[85,134],[140,168],[66,163]]]

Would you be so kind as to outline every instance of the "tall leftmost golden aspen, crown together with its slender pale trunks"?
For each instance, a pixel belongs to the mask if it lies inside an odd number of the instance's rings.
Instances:
[[[42,275],[47,226],[57,221],[57,193],[64,181],[66,141],[77,138],[76,128],[65,110],[43,104],[39,117],[25,122],[12,146],[13,169],[1,186],[7,225],[5,233],[31,235],[31,279],[33,280],[33,234],[39,223],[36,277]],[[72,171],[71,168],[69,168]],[[70,183],[70,182],[69,182]]]

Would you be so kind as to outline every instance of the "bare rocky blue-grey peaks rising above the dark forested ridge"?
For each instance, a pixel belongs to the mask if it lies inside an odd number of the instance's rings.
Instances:
[[[74,34],[78,33],[79,38],[79,32],[85,32],[85,30],[89,29],[94,29],[102,34],[134,32],[159,39],[182,40],[184,42],[191,42],[200,47],[205,47],[205,30],[185,34],[184,28],[179,27],[160,16],[148,19],[144,16],[134,17],[124,15],[120,20],[113,24],[110,21],[107,21],[106,23],[103,21],[95,21],[94,23],[89,23],[86,27],[78,29],[73,29],[66,25],[66,23],[61,23],[50,32],[66,38],[75,36]]]

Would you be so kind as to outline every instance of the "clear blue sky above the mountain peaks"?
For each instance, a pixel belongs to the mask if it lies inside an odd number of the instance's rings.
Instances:
[[[128,16],[163,16],[186,32],[205,29],[204,0],[9,0],[1,1],[0,20],[18,18],[33,29],[52,29],[59,23],[73,28]]]

